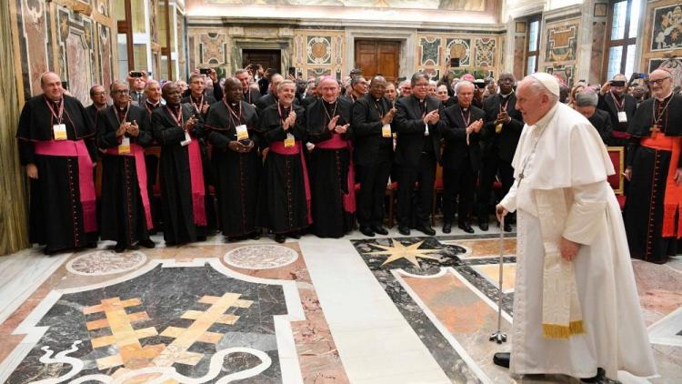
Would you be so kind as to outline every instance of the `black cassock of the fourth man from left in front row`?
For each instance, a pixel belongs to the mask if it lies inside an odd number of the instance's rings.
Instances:
[[[256,107],[244,101],[230,107],[232,110],[225,101],[211,106],[205,127],[208,142],[213,146],[211,162],[223,235],[241,237],[256,231],[256,197],[263,163],[258,157]],[[250,152],[235,152],[228,147],[231,141],[236,141],[236,126],[241,125],[246,125],[249,138],[255,142]]]

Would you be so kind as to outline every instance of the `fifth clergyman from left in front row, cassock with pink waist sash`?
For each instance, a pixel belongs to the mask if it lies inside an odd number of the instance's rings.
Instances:
[[[302,145],[306,142],[306,128],[296,120],[304,109],[294,105],[295,98],[296,85],[283,80],[277,86],[276,104],[260,114],[259,131],[268,147],[257,217],[260,227],[270,229],[278,243],[284,243],[286,236],[300,238],[300,231],[312,223]]]

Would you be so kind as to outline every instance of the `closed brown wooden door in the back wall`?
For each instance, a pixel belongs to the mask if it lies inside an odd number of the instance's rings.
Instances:
[[[382,74],[396,81],[399,73],[400,42],[390,40],[356,40],[356,68],[367,79]]]

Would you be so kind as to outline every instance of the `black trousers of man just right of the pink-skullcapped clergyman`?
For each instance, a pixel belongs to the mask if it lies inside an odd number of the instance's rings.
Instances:
[[[390,150],[390,148],[388,148]],[[384,195],[391,175],[390,152],[380,150],[375,164],[356,166],[357,222],[360,226],[381,226],[384,222]]]

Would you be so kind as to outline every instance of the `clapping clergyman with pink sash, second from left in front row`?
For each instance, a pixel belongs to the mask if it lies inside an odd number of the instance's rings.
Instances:
[[[152,132],[145,110],[131,105],[128,86],[115,81],[109,89],[114,104],[100,111],[97,118],[97,147],[105,152],[100,236],[115,241],[114,250],[119,253],[135,243],[154,248],[149,239],[154,222],[144,149],[152,143]]]

